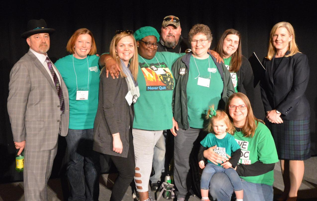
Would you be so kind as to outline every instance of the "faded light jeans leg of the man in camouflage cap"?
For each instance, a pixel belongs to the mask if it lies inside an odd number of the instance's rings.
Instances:
[[[164,132],[164,131],[163,131]],[[165,170],[165,136],[162,135],[156,142],[153,154],[154,175],[150,177],[151,183],[161,181],[162,172]]]

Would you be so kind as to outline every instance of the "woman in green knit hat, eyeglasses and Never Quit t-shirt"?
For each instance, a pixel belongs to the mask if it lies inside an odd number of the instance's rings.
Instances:
[[[149,198],[148,185],[152,169],[154,146],[163,130],[172,127],[172,90],[174,78],[173,62],[184,53],[157,52],[159,33],[153,27],[142,27],[135,31],[138,47],[138,84],[140,97],[134,104],[133,145],[135,154],[135,185],[139,200]],[[111,66],[113,57],[104,54],[99,63]],[[109,63],[110,62],[110,63]]]

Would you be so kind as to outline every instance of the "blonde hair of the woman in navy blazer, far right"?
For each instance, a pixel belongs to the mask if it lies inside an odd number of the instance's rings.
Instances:
[[[268,60],[271,60],[275,54],[275,47],[273,46],[273,35],[276,29],[280,27],[285,27],[288,31],[288,34],[293,36],[293,39],[288,43],[288,51],[289,54],[285,55],[285,57],[293,56],[294,54],[300,52],[295,42],[295,32],[293,26],[289,22],[279,22],[275,24],[270,32],[269,44],[268,44],[268,55],[265,57]]]

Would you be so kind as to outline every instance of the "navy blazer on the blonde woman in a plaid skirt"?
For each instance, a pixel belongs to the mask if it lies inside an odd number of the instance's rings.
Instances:
[[[286,53],[286,55],[289,52]],[[275,72],[272,60],[263,59],[265,76],[260,82],[265,111],[278,110],[283,120],[309,118],[309,103],[305,96],[309,80],[307,56],[296,53],[283,57]]]

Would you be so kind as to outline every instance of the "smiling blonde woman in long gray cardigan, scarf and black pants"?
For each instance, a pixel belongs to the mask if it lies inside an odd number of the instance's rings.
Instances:
[[[121,72],[118,79],[107,78],[101,70],[99,103],[94,122],[94,150],[110,155],[119,172],[111,201],[121,201],[134,176],[132,137],[133,105],[140,97],[137,82],[138,50],[132,33],[116,34],[110,43],[110,55]]]

